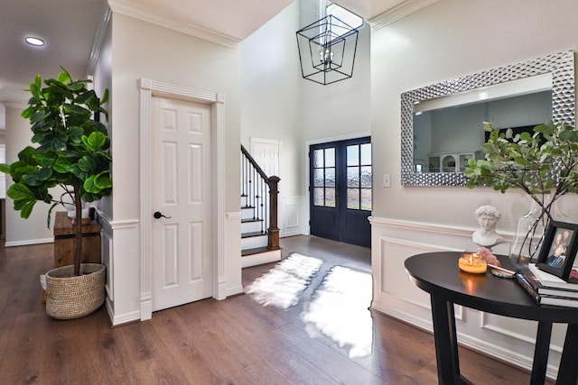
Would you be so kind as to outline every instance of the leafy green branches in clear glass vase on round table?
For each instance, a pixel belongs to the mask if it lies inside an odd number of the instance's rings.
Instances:
[[[484,160],[469,160],[466,186],[489,186],[504,193],[520,188],[536,210],[525,215],[528,225],[518,224],[510,258],[531,261],[542,241],[541,229],[553,219],[552,209],[560,197],[578,192],[578,132],[568,124],[540,124],[532,133],[514,134],[484,123],[489,139],[481,149]],[[536,242],[535,242],[536,240]]]

